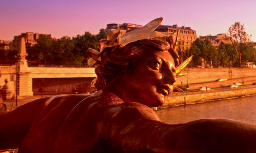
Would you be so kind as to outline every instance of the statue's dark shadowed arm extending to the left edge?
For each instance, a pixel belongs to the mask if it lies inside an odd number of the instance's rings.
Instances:
[[[0,150],[18,148],[31,124],[47,105],[49,97],[28,102],[0,115]]]

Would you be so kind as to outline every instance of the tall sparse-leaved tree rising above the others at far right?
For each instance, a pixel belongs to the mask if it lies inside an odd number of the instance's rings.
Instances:
[[[237,59],[239,59],[239,67],[242,67],[243,45],[251,40],[251,37],[245,32],[244,24],[235,22],[235,24],[228,29],[224,39],[232,43],[236,51]]]

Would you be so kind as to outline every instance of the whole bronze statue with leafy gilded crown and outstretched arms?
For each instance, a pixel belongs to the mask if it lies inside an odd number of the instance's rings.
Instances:
[[[256,125],[201,119],[171,125],[150,107],[169,95],[180,71],[173,33],[154,32],[161,18],[89,49],[95,93],[44,97],[0,115],[0,150],[19,153],[254,152]],[[164,37],[164,40],[156,37]],[[176,68],[175,68],[176,67]],[[177,70],[176,70],[177,69]]]

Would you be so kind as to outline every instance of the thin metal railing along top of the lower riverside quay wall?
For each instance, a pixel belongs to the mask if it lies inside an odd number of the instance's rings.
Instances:
[[[238,86],[238,87],[226,87],[226,88],[213,88],[210,90],[190,90],[184,91],[183,93],[172,93],[172,96],[179,96],[179,95],[194,95],[194,94],[201,94],[201,93],[213,93],[213,92],[221,92],[221,91],[229,91],[229,90],[240,90],[240,89],[248,89],[248,88],[256,88],[256,85],[246,85],[246,86]]]

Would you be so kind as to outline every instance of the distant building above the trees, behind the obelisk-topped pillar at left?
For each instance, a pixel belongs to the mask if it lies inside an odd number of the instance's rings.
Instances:
[[[19,36],[14,36],[10,49],[19,50],[19,43],[20,43],[21,37],[25,38],[26,47],[33,46],[36,44],[36,39],[38,39],[41,35],[47,35],[51,37],[51,35],[48,35],[48,34],[39,34],[34,32],[26,32],[26,33],[21,33],[21,35]]]

